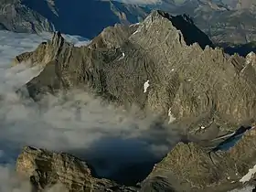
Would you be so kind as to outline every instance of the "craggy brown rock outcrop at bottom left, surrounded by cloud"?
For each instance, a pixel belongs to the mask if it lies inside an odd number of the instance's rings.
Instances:
[[[67,192],[136,191],[134,187],[123,187],[108,179],[93,177],[89,165],[72,155],[35,147],[23,149],[16,161],[16,172],[30,180],[34,191],[55,185]]]

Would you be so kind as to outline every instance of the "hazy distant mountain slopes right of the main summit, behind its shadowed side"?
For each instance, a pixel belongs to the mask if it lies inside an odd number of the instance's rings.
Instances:
[[[246,44],[256,39],[253,1],[187,0],[156,5],[172,15],[187,14],[214,43]],[[169,5],[169,6],[168,6]],[[243,7],[243,8],[241,8]]]

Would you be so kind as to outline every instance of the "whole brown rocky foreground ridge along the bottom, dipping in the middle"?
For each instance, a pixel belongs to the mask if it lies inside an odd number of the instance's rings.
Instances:
[[[16,171],[30,179],[35,191],[59,185],[61,191],[227,192],[255,185],[256,131],[251,130],[227,152],[212,155],[198,144],[179,143],[154,166],[137,187],[124,187],[93,176],[93,169],[80,159],[25,147],[18,156]],[[251,169],[251,171],[250,171]]]

